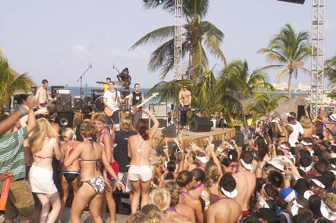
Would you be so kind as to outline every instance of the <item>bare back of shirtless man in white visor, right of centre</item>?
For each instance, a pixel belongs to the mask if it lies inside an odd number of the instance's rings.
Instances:
[[[249,171],[238,171],[238,173],[233,174],[233,177],[236,180],[236,190],[238,191],[238,195],[234,197],[234,200],[242,206],[242,211],[245,211],[249,209],[249,198],[256,186],[256,175]]]

